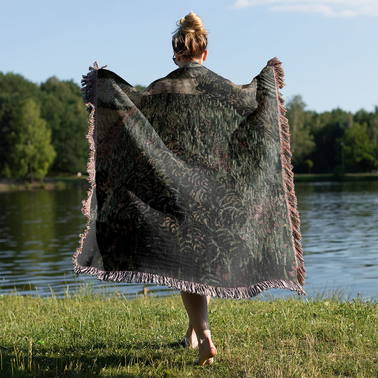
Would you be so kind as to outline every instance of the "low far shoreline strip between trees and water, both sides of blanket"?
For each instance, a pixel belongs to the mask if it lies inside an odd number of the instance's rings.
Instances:
[[[347,173],[342,176],[333,174],[295,174],[294,183],[315,182],[315,181],[374,181],[378,180],[376,173]],[[30,183],[25,178],[1,178],[0,193],[23,190],[56,190],[71,189],[75,187],[87,187],[89,183],[85,176],[67,176],[67,177],[45,177],[43,180],[35,180]]]

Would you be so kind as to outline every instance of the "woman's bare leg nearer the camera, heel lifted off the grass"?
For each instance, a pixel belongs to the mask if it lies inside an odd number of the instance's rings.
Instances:
[[[197,335],[200,356],[195,364],[201,366],[210,365],[214,362],[217,350],[211,340],[208,320],[208,298],[205,295],[186,293],[185,291],[181,291],[181,298]]]

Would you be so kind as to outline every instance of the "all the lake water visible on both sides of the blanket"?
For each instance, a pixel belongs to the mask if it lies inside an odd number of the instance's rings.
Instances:
[[[135,295],[146,285],[100,283],[71,273],[71,257],[84,230],[84,188],[64,191],[8,192],[1,195],[0,293],[63,295],[82,285]],[[378,293],[377,182],[297,183],[302,243],[307,270],[305,289],[343,291],[356,297]],[[147,285],[155,295],[174,291]],[[274,296],[285,290],[272,290]],[[268,293],[269,295],[269,293]]]

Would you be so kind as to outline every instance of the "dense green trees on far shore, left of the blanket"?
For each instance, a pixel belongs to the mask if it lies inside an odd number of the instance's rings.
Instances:
[[[43,178],[85,171],[88,115],[73,81],[41,85],[0,73],[0,174]]]

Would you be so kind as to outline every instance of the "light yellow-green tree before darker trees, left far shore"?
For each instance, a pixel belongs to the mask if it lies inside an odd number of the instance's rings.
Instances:
[[[40,117],[40,108],[28,99],[19,106],[10,121],[9,142],[13,146],[8,164],[13,175],[30,180],[43,178],[53,163],[56,152],[51,146],[51,131]]]

